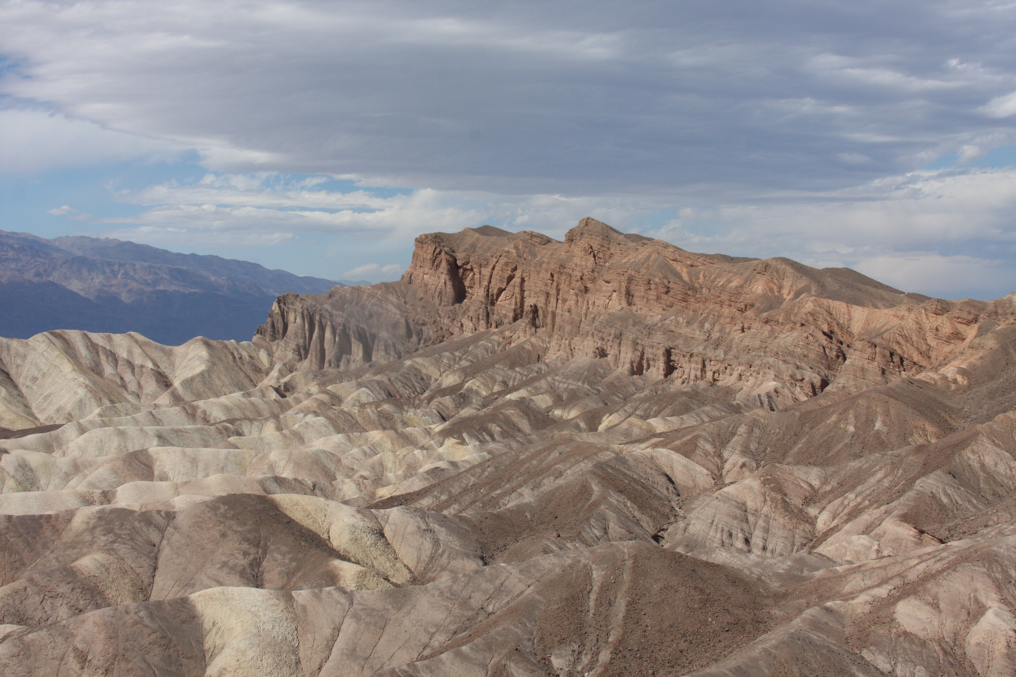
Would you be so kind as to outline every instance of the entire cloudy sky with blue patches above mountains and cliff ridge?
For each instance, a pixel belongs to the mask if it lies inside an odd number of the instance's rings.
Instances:
[[[0,0],[0,228],[328,279],[593,216],[1016,290],[1016,3]]]

